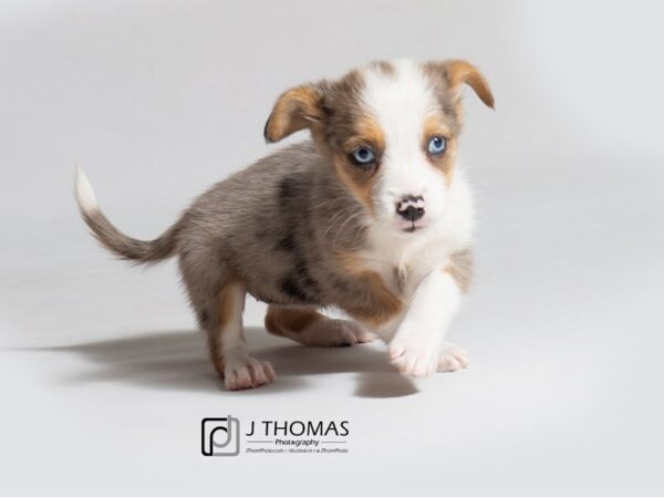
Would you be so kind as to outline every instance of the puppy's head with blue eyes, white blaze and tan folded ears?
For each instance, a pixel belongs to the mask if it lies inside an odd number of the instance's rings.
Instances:
[[[309,128],[375,222],[418,231],[445,211],[464,84],[494,106],[486,80],[465,61],[372,63],[283,93],[264,136],[278,142]]]

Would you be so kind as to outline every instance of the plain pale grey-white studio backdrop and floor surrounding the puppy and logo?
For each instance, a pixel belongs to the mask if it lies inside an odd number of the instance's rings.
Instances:
[[[660,2],[0,3],[0,492],[663,494]],[[76,165],[152,238],[274,149],[290,85],[465,58],[478,278],[467,372],[408,382],[380,345],[253,330],[274,385],[220,388],[169,262],[128,268],[77,217]],[[301,139],[298,136],[294,139]],[[260,326],[262,307],[247,322]],[[199,454],[204,416],[345,418],[349,455]]]

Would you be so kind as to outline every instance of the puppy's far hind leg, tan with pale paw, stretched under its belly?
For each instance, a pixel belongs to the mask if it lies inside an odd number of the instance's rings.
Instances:
[[[375,339],[359,324],[330,319],[313,308],[270,305],[266,314],[266,329],[274,335],[311,346],[349,346]]]

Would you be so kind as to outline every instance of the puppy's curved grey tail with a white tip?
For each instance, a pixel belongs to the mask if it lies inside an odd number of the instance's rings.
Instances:
[[[115,228],[100,210],[92,185],[81,168],[76,170],[74,194],[81,216],[92,234],[106,249],[122,259],[137,263],[154,263],[169,258],[175,252],[180,221],[155,240],[133,239]]]

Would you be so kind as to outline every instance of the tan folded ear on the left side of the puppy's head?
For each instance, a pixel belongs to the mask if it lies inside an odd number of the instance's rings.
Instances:
[[[279,142],[300,129],[319,126],[324,116],[322,98],[321,84],[297,86],[282,93],[266,123],[266,141]]]

